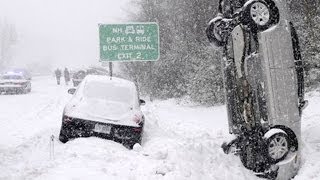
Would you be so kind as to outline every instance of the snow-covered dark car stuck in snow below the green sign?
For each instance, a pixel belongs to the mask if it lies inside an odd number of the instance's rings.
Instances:
[[[73,98],[66,105],[59,135],[61,142],[96,136],[132,148],[141,143],[144,115],[136,85],[128,80],[88,75],[78,89],[69,89]]]

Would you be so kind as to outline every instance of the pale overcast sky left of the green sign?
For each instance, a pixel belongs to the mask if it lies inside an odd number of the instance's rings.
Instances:
[[[98,64],[98,23],[125,22],[129,0],[0,0],[0,20],[18,33],[15,62]]]

